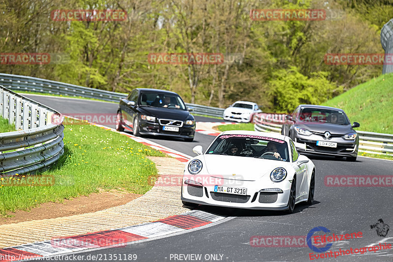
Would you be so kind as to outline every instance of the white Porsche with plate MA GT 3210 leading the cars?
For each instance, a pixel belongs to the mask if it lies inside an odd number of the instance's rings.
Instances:
[[[217,205],[293,212],[312,204],[315,166],[296,149],[303,144],[280,134],[225,131],[184,170],[181,200],[186,206]]]

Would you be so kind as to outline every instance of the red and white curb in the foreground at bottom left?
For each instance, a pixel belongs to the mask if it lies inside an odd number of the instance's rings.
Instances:
[[[93,248],[124,247],[139,240],[197,229],[225,218],[202,210],[192,210],[136,226],[3,248],[0,249],[0,261],[33,260]]]

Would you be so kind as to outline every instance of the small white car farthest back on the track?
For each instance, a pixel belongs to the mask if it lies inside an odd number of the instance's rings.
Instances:
[[[262,110],[253,102],[237,101],[225,109],[223,118],[236,122],[250,122],[254,114],[261,112]]]

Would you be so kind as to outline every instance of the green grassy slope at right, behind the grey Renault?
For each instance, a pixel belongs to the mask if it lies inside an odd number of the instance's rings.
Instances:
[[[357,130],[393,134],[393,74],[382,75],[323,103],[345,111]]]

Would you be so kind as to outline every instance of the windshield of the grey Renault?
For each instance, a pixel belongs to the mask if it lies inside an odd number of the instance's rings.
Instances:
[[[342,111],[330,109],[303,108],[299,113],[299,120],[303,122],[324,122],[348,125],[348,117]]]

